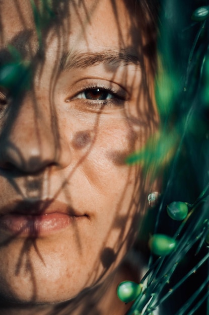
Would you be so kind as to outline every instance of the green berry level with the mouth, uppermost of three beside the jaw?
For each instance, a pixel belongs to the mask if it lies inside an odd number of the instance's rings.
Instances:
[[[188,206],[185,202],[174,201],[167,206],[167,212],[173,220],[181,221],[188,214]]]

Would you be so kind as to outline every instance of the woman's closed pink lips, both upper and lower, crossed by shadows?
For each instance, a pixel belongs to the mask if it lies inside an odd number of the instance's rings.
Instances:
[[[54,200],[21,201],[1,209],[0,230],[21,237],[42,237],[74,224],[86,214]]]

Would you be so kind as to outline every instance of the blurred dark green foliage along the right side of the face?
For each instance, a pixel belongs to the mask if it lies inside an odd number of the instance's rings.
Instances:
[[[151,314],[156,306],[166,315],[209,313],[205,243],[209,226],[207,5],[207,1],[161,0],[156,78],[160,129],[142,151],[128,157],[127,163],[141,163],[145,172],[154,169],[153,177],[163,179],[161,201],[148,211],[140,239],[153,235],[150,244],[154,254],[153,238],[160,250],[170,238],[177,240],[177,245],[166,257],[160,251],[158,259],[151,253],[150,269],[142,279],[146,289],[129,315],[135,310]],[[167,205],[171,207],[173,202],[189,205],[182,222],[167,214]]]

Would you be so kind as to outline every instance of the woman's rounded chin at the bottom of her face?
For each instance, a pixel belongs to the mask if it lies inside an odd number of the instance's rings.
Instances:
[[[14,276],[14,270],[10,270],[1,278],[1,301],[8,304],[60,303],[75,298],[84,289],[84,284],[79,282],[80,279],[76,281],[76,276],[61,275],[60,270],[55,272],[49,266],[46,273],[41,268],[34,268]]]

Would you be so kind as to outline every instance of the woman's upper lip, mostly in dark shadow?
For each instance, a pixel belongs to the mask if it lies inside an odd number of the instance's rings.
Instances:
[[[1,207],[0,216],[5,214],[44,215],[55,212],[67,214],[69,216],[86,215],[79,213],[74,208],[62,201],[45,199],[35,201],[21,200],[13,203],[8,203],[7,205]]]

